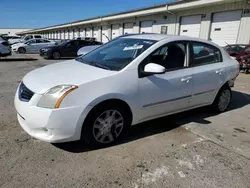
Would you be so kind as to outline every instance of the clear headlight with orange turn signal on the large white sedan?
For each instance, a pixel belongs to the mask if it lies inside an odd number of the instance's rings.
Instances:
[[[43,108],[59,108],[63,99],[72,91],[77,89],[73,85],[59,85],[46,91],[40,98],[37,106]]]

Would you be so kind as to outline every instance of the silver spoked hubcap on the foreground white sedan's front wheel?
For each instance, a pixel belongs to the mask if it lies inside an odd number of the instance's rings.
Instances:
[[[123,126],[121,113],[117,110],[107,110],[97,117],[94,123],[94,138],[100,143],[111,143],[121,134]]]

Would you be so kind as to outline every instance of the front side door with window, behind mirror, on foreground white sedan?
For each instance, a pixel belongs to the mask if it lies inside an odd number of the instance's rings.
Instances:
[[[162,65],[166,72],[139,78],[140,119],[160,117],[189,108],[193,82],[192,71],[188,67],[187,44],[178,42],[160,47],[141,62],[139,72],[148,63]]]

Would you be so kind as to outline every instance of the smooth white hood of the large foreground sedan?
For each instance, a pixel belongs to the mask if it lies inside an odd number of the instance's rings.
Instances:
[[[23,78],[23,83],[33,92],[43,94],[54,86],[62,84],[80,86],[114,73],[116,71],[69,60],[31,71]]]

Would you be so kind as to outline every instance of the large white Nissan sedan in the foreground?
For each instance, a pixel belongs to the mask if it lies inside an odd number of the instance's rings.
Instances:
[[[46,142],[102,147],[131,125],[186,110],[227,110],[239,63],[212,42],[124,36],[85,56],[28,73],[15,95],[20,125]]]

